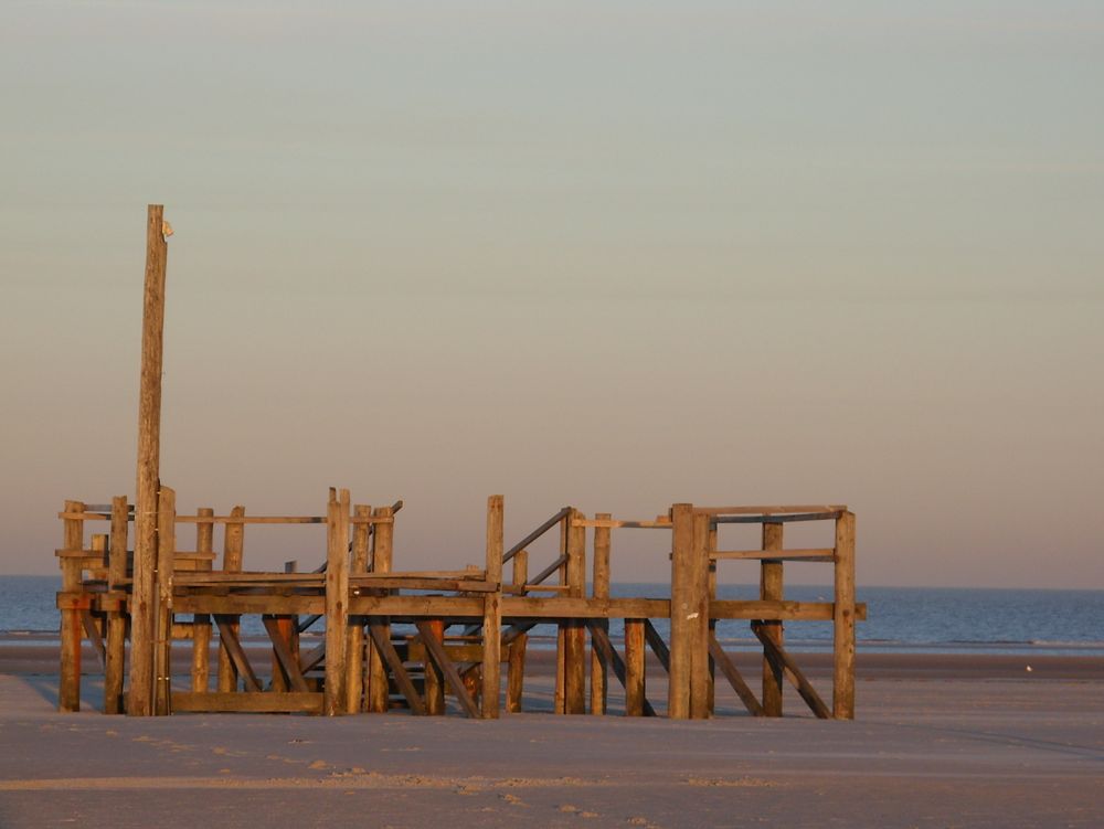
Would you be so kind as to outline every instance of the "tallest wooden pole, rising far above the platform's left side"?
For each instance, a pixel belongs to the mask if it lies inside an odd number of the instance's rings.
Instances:
[[[146,220],[146,291],[142,302],[138,394],[138,485],[135,501],[134,586],[130,607],[130,693],[127,713],[153,713],[153,619],[157,605],[157,489],[161,446],[161,355],[164,340],[164,208],[150,204]]]

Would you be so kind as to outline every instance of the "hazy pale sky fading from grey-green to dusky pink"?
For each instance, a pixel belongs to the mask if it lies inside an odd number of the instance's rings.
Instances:
[[[0,573],[134,492],[163,203],[181,510],[402,498],[396,567],[440,568],[491,493],[507,543],[847,503],[860,586],[1102,589],[1101,88],[1071,0],[7,0]]]

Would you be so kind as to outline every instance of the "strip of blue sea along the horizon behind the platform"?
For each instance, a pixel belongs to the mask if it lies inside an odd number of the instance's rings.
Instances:
[[[42,644],[57,637],[57,576],[0,576],[0,637],[6,644]],[[666,598],[666,584],[615,584],[614,596]],[[754,585],[721,585],[719,598],[755,598]],[[1010,653],[1104,657],[1104,591],[990,589],[968,587],[864,587],[868,618],[858,625],[858,648],[895,653]],[[786,598],[831,601],[831,587],[787,586]],[[319,626],[320,627],[320,626]],[[620,625],[611,634],[620,638]],[[666,635],[664,620],[657,628]],[[320,629],[318,634],[320,635]],[[726,649],[754,650],[757,642],[746,621],[718,623]],[[262,639],[256,616],[243,621],[243,635]],[[831,649],[831,624],[794,621],[786,641],[795,651]],[[551,647],[555,629],[532,631],[537,647]]]

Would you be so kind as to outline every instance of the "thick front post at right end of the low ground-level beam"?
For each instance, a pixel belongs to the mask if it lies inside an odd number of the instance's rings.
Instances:
[[[348,711],[346,647],[349,627],[349,490],[327,504],[326,684],[322,712]]]

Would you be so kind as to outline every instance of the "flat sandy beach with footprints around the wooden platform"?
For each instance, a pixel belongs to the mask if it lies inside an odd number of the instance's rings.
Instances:
[[[1098,659],[863,655],[854,722],[541,713],[59,714],[55,652],[0,647],[0,826],[1096,827]],[[535,660],[540,666],[542,660]],[[804,657],[822,682],[822,658]],[[750,661],[746,662],[750,666]],[[649,682],[651,680],[649,674]],[[661,685],[649,695],[661,699]],[[616,700],[613,701],[616,708]]]

